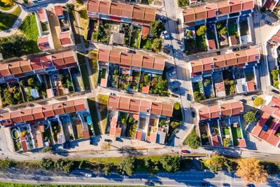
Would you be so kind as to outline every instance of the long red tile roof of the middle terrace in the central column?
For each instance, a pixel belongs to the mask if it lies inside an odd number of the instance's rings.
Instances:
[[[97,53],[97,60],[99,62],[111,62],[133,67],[156,69],[160,71],[165,69],[165,60],[163,58],[131,54],[118,50],[99,49]]]

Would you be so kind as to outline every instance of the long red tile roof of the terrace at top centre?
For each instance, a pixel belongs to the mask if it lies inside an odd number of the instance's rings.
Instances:
[[[87,1],[87,11],[123,18],[133,18],[133,20],[140,24],[155,21],[156,14],[155,8],[99,0]]]

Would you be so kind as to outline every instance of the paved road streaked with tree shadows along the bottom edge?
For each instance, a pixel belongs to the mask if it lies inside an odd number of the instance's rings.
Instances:
[[[211,186],[222,186],[223,183],[232,186],[244,186],[241,179],[236,178],[234,174],[219,172],[213,174],[211,172],[176,172],[161,173],[158,176],[149,176],[148,174],[136,173],[129,179],[123,179],[118,174],[111,176],[84,177],[77,176],[79,172],[73,172],[68,176],[48,176],[48,174],[20,174],[8,173],[1,174],[0,181],[18,182],[18,183],[48,183],[48,184],[99,184],[99,185],[131,185],[140,186],[145,181],[153,181],[155,186],[201,186],[202,183],[211,183]],[[269,179],[268,184],[261,184],[261,187],[276,186],[275,179]]]

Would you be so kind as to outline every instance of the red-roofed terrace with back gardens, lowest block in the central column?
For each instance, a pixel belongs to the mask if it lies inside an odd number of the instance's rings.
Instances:
[[[165,144],[173,104],[110,96],[108,109],[106,132],[111,136]]]

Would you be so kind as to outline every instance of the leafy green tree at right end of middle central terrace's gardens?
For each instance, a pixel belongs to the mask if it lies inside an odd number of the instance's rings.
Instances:
[[[160,96],[169,95],[167,80],[163,80],[162,76],[154,76],[151,81],[150,93],[157,94]]]

